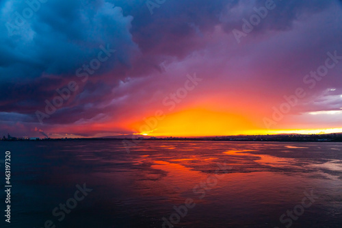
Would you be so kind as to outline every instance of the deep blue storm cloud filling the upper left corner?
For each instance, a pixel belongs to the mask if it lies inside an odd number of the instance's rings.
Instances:
[[[25,7],[25,1],[14,1],[1,15],[1,23],[16,25],[14,13]],[[133,17],[123,16],[111,3],[48,1],[25,20],[13,36],[1,27],[3,81],[29,81],[43,74],[75,75],[77,68],[97,57],[101,45],[116,49],[122,64],[129,64],[130,56],[138,51],[129,32]]]

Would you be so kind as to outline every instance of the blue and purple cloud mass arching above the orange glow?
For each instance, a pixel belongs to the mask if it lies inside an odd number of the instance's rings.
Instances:
[[[210,75],[208,92],[239,85],[239,96],[244,91],[278,101],[268,94],[287,94],[324,61],[327,51],[342,53],[341,10],[334,9],[339,2],[275,0],[276,8],[237,45],[232,30],[241,29],[241,19],[265,0],[167,0],[152,15],[144,0],[49,0],[12,36],[5,25],[15,25],[15,12],[21,14],[27,3],[1,1],[0,125],[11,129],[25,123],[20,129],[31,131],[38,124],[36,110],[43,111],[45,100],[52,101],[55,90],[70,81],[79,90],[44,120],[51,131],[53,125],[139,114],[154,102],[154,92],[163,94],[183,83],[183,68]],[[115,54],[81,81],[75,72],[98,57],[101,45]],[[166,73],[170,65],[173,75]],[[342,87],[330,78],[311,95]]]

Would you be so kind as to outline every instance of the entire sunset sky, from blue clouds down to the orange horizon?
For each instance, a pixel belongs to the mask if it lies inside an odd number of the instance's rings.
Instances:
[[[342,1],[0,1],[0,136],[342,132]]]

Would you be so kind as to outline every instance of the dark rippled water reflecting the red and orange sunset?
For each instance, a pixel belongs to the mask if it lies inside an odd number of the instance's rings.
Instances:
[[[1,227],[342,225],[339,143],[142,141],[127,153],[117,141],[0,142],[7,150],[12,219]],[[83,183],[92,190],[73,200]],[[67,201],[77,205],[62,219]]]

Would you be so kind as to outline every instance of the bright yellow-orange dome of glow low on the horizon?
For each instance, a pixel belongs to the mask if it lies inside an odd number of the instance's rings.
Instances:
[[[150,121],[146,121],[150,120]],[[267,134],[333,134],[342,133],[342,127],[313,129],[265,129],[254,123],[253,118],[227,112],[217,112],[195,108],[168,114],[161,121],[150,116],[144,121],[130,125],[135,135],[161,137],[205,137],[205,136],[239,136]],[[156,124],[157,123],[157,124]],[[140,129],[140,130],[139,130]]]

